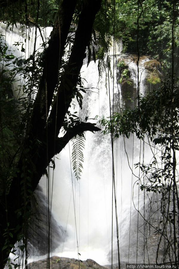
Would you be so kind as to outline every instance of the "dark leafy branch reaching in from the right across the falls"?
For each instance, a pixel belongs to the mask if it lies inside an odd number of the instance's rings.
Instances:
[[[148,135],[151,141],[158,143],[155,135],[176,136],[178,137],[178,108],[179,108],[179,91],[178,86],[171,91],[171,80],[163,82],[161,88],[140,97],[140,109],[126,109],[121,113],[115,112],[112,117],[112,124],[109,119],[102,119],[101,124],[104,126],[103,133],[112,132],[115,137],[124,135],[129,138],[130,133],[135,133],[138,138]],[[174,109],[174,112],[172,112]],[[171,129],[172,123],[169,115],[173,115],[175,128]],[[160,135],[159,135],[160,137]],[[161,140],[163,141],[163,140]]]

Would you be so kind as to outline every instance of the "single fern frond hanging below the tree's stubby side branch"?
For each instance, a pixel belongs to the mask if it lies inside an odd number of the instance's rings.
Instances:
[[[79,180],[83,169],[83,149],[85,145],[84,134],[76,135],[73,138],[73,149],[72,149],[72,166],[75,178]]]

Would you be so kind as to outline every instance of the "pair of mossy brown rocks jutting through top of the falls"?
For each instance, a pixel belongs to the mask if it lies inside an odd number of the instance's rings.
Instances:
[[[137,56],[121,55],[118,59],[118,82],[121,86],[121,97],[124,107],[133,108],[137,97]],[[161,65],[156,59],[149,60],[141,55],[139,62],[140,93],[153,91],[160,87]]]

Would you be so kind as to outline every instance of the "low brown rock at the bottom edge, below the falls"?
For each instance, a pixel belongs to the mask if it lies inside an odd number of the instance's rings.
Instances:
[[[80,263],[80,266],[79,266]],[[88,269],[105,269],[106,267],[99,265],[97,262],[87,259],[86,261],[78,262],[77,259],[70,259],[64,257],[53,256],[50,258],[50,269],[78,269],[78,268],[88,268]],[[28,268],[40,268],[46,269],[47,267],[47,259],[40,260],[38,262],[31,262],[28,264]]]

